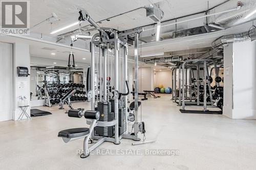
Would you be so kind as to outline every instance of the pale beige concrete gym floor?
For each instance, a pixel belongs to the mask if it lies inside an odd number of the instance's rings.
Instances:
[[[0,123],[1,169],[255,169],[256,120],[234,120],[223,115],[181,114],[169,95],[142,103],[148,140],[132,146],[105,142],[98,149],[178,150],[179,156],[90,155],[81,159],[83,139],[64,143],[60,130],[88,127],[86,119],[71,118],[57,106],[52,115]],[[89,103],[74,103],[90,109]],[[140,117],[140,116],[139,116]]]

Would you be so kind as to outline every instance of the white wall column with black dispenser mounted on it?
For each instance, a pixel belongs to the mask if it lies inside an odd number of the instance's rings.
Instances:
[[[18,107],[19,96],[26,96],[29,101],[30,98],[30,77],[18,77],[17,66],[23,66],[30,68],[30,55],[29,45],[22,43],[13,44],[13,116],[16,120],[22,111]],[[18,85],[24,83],[24,87],[20,88]],[[29,101],[30,102],[30,101]],[[27,113],[30,114],[30,108],[27,109]],[[25,118],[25,116],[24,116]]]

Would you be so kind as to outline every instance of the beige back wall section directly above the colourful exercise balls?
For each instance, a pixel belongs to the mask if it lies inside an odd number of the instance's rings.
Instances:
[[[159,84],[172,88],[172,71],[154,71],[154,87]]]

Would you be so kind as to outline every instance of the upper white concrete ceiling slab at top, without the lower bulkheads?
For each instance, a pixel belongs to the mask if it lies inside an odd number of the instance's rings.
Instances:
[[[78,19],[77,8],[85,9],[95,21],[99,21],[126,11],[130,11],[157,2],[160,2],[160,7],[165,14],[162,21],[205,11],[207,10],[208,6],[207,0],[33,0],[30,1],[30,24],[31,26],[34,26],[38,22],[50,17],[51,12],[56,13],[60,21],[54,22],[52,26],[50,25],[50,23],[46,23],[40,25],[39,28],[33,30],[37,33],[49,34],[51,32],[51,29],[56,30],[76,22]],[[225,0],[209,1],[209,8],[223,2],[225,2]],[[139,26],[148,25],[151,23],[154,22],[146,17],[145,9],[140,9],[115,17],[110,21],[103,21],[100,26],[111,27],[119,30],[127,30]],[[82,26],[88,24],[89,22],[85,21],[82,23]],[[65,31],[56,33],[55,35],[72,31],[74,29],[78,29],[78,26],[74,26]]]

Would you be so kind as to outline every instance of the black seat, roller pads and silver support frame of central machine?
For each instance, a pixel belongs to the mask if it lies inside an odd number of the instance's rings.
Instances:
[[[87,110],[83,113],[82,110],[70,109],[68,112],[69,117],[77,117],[92,119],[90,124],[90,128],[73,128],[62,130],[58,133],[58,137],[61,137],[65,143],[68,143],[72,140],[77,140],[84,137],[83,140],[83,153],[80,155],[81,158],[86,158],[90,155],[91,150],[95,148],[89,148],[89,140],[92,132],[94,131],[94,127],[97,126],[97,120],[100,117],[99,111]]]

